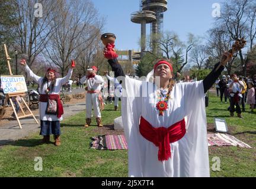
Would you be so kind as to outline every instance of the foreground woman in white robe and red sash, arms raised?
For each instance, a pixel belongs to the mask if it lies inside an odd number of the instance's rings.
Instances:
[[[114,77],[123,80],[121,113],[129,177],[209,177],[204,93],[219,77],[230,53],[223,53],[204,80],[190,83],[175,83],[167,60],[156,61],[148,75],[153,83],[131,79],[111,54],[104,49]]]

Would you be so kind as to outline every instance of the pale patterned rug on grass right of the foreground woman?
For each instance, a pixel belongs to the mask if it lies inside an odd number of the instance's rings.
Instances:
[[[242,148],[251,148],[248,144],[227,133],[207,133],[207,137],[208,146],[239,146]]]

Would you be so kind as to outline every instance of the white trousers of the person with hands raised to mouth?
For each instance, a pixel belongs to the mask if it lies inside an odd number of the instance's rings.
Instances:
[[[95,118],[101,118],[100,100],[97,93],[86,94],[86,118],[92,118],[92,106]]]

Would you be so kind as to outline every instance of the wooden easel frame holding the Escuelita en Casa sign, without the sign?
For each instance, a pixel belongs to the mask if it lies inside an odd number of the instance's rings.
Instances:
[[[11,60],[11,58],[9,57],[8,55],[8,51],[7,51],[7,47],[6,45],[4,44],[4,49],[5,49],[5,56],[7,57],[7,64],[8,64],[8,68],[9,68],[9,74],[12,76],[12,71],[11,71],[11,65],[9,63],[9,60]],[[37,122],[37,119],[36,117],[33,115],[33,113],[31,112],[30,108],[28,107],[27,103],[25,102],[25,100],[23,99],[23,96],[25,95],[25,92],[21,92],[21,93],[8,93],[7,94],[7,98],[5,99],[5,103],[4,103],[4,107],[7,105],[7,102],[9,100],[9,102],[11,102],[11,106],[12,106],[12,109],[14,110],[14,114],[15,114],[15,117],[17,119],[17,122],[18,122],[18,125],[20,126],[20,129],[22,129],[21,127],[21,123],[20,123],[20,119],[21,118],[27,118],[27,117],[30,117],[30,116],[33,116],[34,120],[36,121],[37,124],[39,124],[39,122]],[[30,112],[30,114],[26,115],[24,110],[23,110],[23,107],[21,106],[21,103],[20,101],[18,100],[18,96],[21,97],[21,100],[22,102],[24,103],[25,107],[27,107],[28,111]],[[18,116],[16,110],[15,110],[15,106],[14,106],[14,102],[12,102],[12,97],[15,98],[16,102],[18,103],[18,105],[20,106],[20,110],[21,112],[23,113],[23,116]],[[2,111],[4,112],[4,111]]]

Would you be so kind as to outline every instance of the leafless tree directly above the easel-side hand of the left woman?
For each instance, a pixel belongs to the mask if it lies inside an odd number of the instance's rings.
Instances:
[[[27,56],[27,63],[32,66],[49,39],[51,30],[49,24],[52,21],[49,15],[56,7],[55,1],[14,0],[14,4],[18,17],[16,32],[19,37],[13,45],[18,48],[20,54]],[[42,9],[39,10],[43,11],[42,17],[36,15],[39,9],[37,4],[42,5]]]

